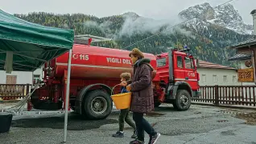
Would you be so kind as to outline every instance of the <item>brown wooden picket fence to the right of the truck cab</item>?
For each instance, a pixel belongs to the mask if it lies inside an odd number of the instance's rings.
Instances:
[[[193,98],[193,102],[256,106],[256,86],[200,86],[200,90],[200,98]]]

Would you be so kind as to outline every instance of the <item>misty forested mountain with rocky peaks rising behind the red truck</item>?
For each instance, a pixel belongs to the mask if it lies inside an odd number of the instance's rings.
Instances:
[[[220,12],[225,9],[228,9],[229,12]],[[179,18],[166,21],[143,18],[131,12],[105,18],[87,14],[49,14],[44,12],[14,15],[44,26],[72,29],[75,30],[75,34],[92,34],[114,39],[113,42],[93,43],[94,46],[126,50],[138,47],[140,50],[152,54],[165,52],[167,47],[183,49],[184,46],[188,46],[196,58],[225,66],[235,66],[234,63],[227,61],[229,56],[235,52],[226,47],[250,38],[251,35],[248,34],[250,26],[242,23],[241,16],[237,10],[233,9],[232,5],[218,10],[209,7],[209,3],[204,3],[183,10],[180,12]],[[195,14],[199,17],[195,17]],[[234,29],[237,26],[235,21],[232,21],[233,24],[224,21],[229,17],[233,19],[238,17],[239,30]],[[175,24],[187,19],[191,20],[173,28]],[[156,35],[138,42],[152,34]],[[138,43],[130,46],[134,42]]]

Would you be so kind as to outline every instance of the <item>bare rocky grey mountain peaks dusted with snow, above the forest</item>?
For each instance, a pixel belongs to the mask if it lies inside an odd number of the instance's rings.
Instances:
[[[229,3],[213,8],[209,3],[205,2],[181,11],[179,16],[184,19],[199,18],[204,22],[223,26],[239,34],[252,34],[253,31],[253,26],[246,25],[241,15]]]

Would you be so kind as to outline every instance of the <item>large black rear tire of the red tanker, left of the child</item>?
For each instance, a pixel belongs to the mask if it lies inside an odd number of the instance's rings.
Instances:
[[[112,99],[102,90],[93,90],[85,95],[82,104],[82,114],[89,119],[104,119],[111,114]]]

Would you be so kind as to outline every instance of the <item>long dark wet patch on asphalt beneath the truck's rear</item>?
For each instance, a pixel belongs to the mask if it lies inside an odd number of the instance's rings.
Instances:
[[[84,120],[80,115],[68,116],[68,130],[91,130],[97,129],[100,126],[106,124],[118,123],[116,119],[102,119],[102,120]],[[23,128],[52,128],[63,129],[64,116],[63,117],[50,117],[50,118],[27,118],[13,120],[11,123],[13,127]]]

